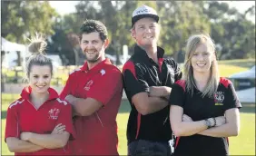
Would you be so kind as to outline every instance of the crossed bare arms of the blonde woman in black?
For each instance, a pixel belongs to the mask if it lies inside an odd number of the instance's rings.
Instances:
[[[193,134],[202,134],[212,137],[237,136],[240,129],[240,117],[237,108],[229,109],[225,112],[225,117],[220,116],[216,119],[216,126],[207,129],[205,121],[193,122],[185,115],[180,106],[172,105],[170,110],[170,122],[172,131],[176,136],[190,136]]]

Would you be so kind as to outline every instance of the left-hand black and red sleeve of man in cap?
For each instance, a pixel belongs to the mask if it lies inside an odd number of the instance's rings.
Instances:
[[[143,70],[128,61],[123,66],[124,91],[129,99],[136,93],[149,93],[149,85],[144,78]]]

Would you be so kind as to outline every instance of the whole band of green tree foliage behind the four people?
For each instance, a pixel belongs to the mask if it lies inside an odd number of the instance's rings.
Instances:
[[[85,19],[100,20],[107,26],[111,41],[107,54],[119,56],[123,44],[133,54],[131,18],[140,5],[150,5],[158,12],[162,25],[158,44],[179,62],[186,40],[199,32],[212,35],[220,60],[255,57],[255,24],[248,20],[248,15],[255,15],[255,5],[240,13],[220,1],[80,1],[74,13],[64,16],[57,15],[47,1],[1,1],[1,5],[2,36],[25,44],[25,38],[35,31],[52,35],[49,54],[59,54],[64,65],[84,63],[74,35]]]

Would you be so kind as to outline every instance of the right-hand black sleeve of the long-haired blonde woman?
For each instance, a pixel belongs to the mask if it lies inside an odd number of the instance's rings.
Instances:
[[[224,97],[224,105],[225,110],[229,110],[231,108],[241,108],[241,102],[239,101],[234,86],[231,82],[229,82],[227,87],[226,95]]]

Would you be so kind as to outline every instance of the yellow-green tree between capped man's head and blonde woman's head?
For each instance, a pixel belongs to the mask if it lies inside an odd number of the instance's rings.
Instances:
[[[210,33],[210,23],[202,14],[202,3],[159,1],[157,5],[162,25],[159,44],[175,59],[191,34]]]

